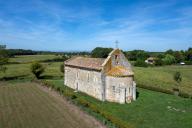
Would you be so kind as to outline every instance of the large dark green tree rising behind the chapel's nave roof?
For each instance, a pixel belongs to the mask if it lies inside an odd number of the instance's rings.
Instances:
[[[112,48],[96,47],[92,50],[91,56],[95,58],[106,58],[112,50]]]

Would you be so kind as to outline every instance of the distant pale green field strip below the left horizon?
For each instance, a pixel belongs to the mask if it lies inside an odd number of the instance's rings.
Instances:
[[[10,58],[9,62],[29,63],[33,61],[43,61],[56,58],[56,55],[22,55]]]

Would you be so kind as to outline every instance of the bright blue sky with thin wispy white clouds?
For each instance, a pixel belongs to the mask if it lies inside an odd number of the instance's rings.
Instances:
[[[70,51],[192,47],[192,0],[0,0],[0,43]]]

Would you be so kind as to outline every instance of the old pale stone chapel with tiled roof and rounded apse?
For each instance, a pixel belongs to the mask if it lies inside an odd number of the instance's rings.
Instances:
[[[136,100],[134,73],[119,49],[114,49],[106,59],[73,57],[65,61],[64,84],[102,101]]]

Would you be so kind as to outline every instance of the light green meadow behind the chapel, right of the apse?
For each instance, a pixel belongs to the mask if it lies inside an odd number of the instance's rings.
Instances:
[[[192,95],[192,65],[148,68],[134,67],[137,84],[157,86],[170,90],[176,85],[173,79],[173,74],[176,71],[181,72],[183,78],[179,86],[180,90]]]

